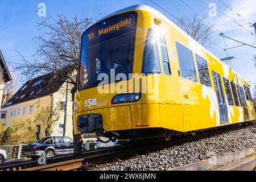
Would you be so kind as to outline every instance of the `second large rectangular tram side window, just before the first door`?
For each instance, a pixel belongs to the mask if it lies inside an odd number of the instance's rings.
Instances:
[[[198,55],[196,55],[196,61],[201,84],[212,87],[207,61]]]

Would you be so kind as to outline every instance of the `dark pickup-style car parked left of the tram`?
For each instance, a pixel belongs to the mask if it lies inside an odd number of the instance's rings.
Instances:
[[[56,155],[72,154],[73,140],[69,137],[46,137],[27,146],[23,146],[22,154],[27,158],[37,159],[46,152],[46,158]]]

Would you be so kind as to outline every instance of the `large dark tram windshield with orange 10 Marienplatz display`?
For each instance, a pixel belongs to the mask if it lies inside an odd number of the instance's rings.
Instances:
[[[101,73],[108,75],[109,80],[104,81],[114,82],[110,69],[126,77],[133,73],[137,16],[134,11],[115,15],[86,30],[82,36],[79,90],[97,86],[104,80],[98,79]]]

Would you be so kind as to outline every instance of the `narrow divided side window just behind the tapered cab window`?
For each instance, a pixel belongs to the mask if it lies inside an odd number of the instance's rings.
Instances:
[[[162,34],[159,35],[159,42],[160,42],[160,48],[161,48],[164,74],[171,75],[171,68],[170,68],[170,61],[169,61],[169,57],[168,57],[166,38],[164,35],[162,35]]]

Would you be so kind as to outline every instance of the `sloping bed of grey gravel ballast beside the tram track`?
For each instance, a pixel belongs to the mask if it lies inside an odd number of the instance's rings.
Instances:
[[[102,164],[99,171],[163,171],[187,164],[200,162],[216,156],[222,156],[244,150],[256,145],[256,126],[217,134],[196,142],[166,148],[158,152],[123,160],[121,162]]]

